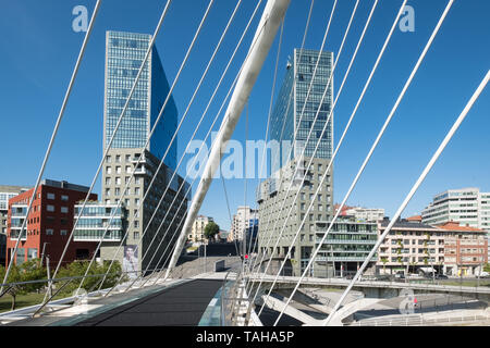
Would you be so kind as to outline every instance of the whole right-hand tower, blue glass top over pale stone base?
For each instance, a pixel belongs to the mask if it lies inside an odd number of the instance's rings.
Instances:
[[[313,80],[318,58],[320,60]],[[298,238],[294,246],[296,250],[292,262],[294,274],[299,274],[304,270],[306,260],[315,247],[316,222],[329,221],[333,215],[333,165],[326,173],[333,147],[333,114],[327,124],[333,98],[333,78],[327,89],[332,72],[332,52],[294,50],[294,59],[287,64],[285,78],[271,114],[270,139],[280,144],[281,150],[272,151],[271,176],[257,189],[260,221],[258,238],[259,247],[264,252],[271,251],[284,224],[284,232],[278,247],[280,250],[287,248],[301,227],[306,210],[310,203],[314,204],[301,229],[305,238],[303,240]],[[308,96],[311,80],[313,88]],[[321,100],[326,89],[326,98]],[[317,122],[314,124],[317,112]],[[327,130],[322,135],[324,127]],[[310,138],[306,144],[308,134]],[[317,142],[319,146],[313,157]],[[305,151],[302,158],[303,149]],[[289,156],[290,152],[291,156]],[[310,160],[311,166],[306,171]],[[326,181],[320,187],[318,197],[315,198],[314,194],[324,174]],[[303,177],[305,182],[299,187]],[[286,196],[290,187],[290,194]],[[298,199],[293,206],[296,192],[298,192]],[[279,212],[283,202],[284,209]],[[292,214],[286,220],[291,209]]]

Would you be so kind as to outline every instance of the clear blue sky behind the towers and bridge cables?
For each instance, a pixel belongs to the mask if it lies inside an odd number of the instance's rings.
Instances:
[[[195,129],[222,70],[244,29],[256,1],[244,0],[201,92],[179,137],[179,153]],[[339,1],[327,50],[336,52],[355,0]],[[335,145],[370,73],[402,0],[384,0],[375,13],[365,42],[353,67],[334,115]],[[0,184],[34,185],[51,135],[84,35],[72,29],[72,10],[94,0],[22,0],[0,5],[0,101],[3,161]],[[164,70],[173,80],[185,51],[208,4],[205,0],[173,1],[157,39]],[[175,88],[181,113],[196,87],[236,1],[216,0],[210,17]],[[306,48],[319,49],[333,0],[317,0]],[[335,73],[339,87],[354,52],[372,1],[363,0]],[[445,0],[411,0],[416,14],[415,33],[396,30],[371,87],[357,113],[344,146],[334,163],[334,200],[341,201],[357,173],[369,147],[414,67],[433,30]],[[102,156],[103,72],[106,30],[152,34],[164,1],[105,0],[95,32],[69,102],[45,174],[47,178],[68,179],[89,185]],[[264,4],[261,5],[261,9]],[[301,46],[309,1],[292,0],[284,24],[278,87],[294,48]],[[433,151],[456,120],[489,69],[490,2],[456,1],[412,87],[370,164],[357,185],[350,204],[384,208],[392,215]],[[255,20],[213,102],[198,138],[204,138],[223,97],[243,62],[258,24]],[[264,139],[278,40],[274,42],[249,100],[249,139]],[[336,89],[335,89],[336,90]],[[163,120],[164,122],[164,120]],[[481,95],[465,123],[450,144],[405,215],[419,213],[432,196],[448,188],[480,187],[490,190],[490,90]],[[245,139],[244,117],[233,139]],[[186,163],[186,162],[185,162]],[[184,174],[184,171],[180,171]],[[254,201],[257,181],[248,181],[246,203]],[[226,181],[232,212],[244,203],[244,181]],[[100,194],[100,183],[96,186]],[[220,181],[211,186],[201,213],[215,216],[230,227]]]

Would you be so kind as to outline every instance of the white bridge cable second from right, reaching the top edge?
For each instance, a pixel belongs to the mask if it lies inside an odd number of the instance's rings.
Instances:
[[[320,241],[320,244],[319,244],[319,247],[316,248],[314,254],[311,256],[311,258],[310,258],[310,260],[309,260],[309,262],[308,262],[308,264],[307,264],[305,271],[304,271],[303,274],[302,274],[302,277],[301,277],[299,281],[297,282],[297,284],[296,284],[296,286],[294,287],[294,290],[293,290],[291,297],[287,299],[285,306],[283,307],[283,309],[282,309],[282,311],[281,311],[281,314],[280,314],[280,315],[278,316],[278,319],[275,320],[274,325],[278,324],[279,320],[280,320],[280,319],[282,318],[282,315],[284,314],[284,311],[285,311],[285,309],[287,308],[287,306],[290,304],[292,297],[296,294],[296,291],[297,291],[297,289],[298,289],[301,283],[303,282],[303,279],[304,279],[305,276],[306,276],[306,273],[309,271],[309,268],[311,266],[313,262],[315,261],[315,259],[316,259],[316,257],[317,257],[317,254],[318,254],[318,252],[319,252],[319,250],[320,250],[320,248],[321,248],[321,245],[323,244],[324,239],[326,239],[327,236],[329,235],[330,229],[332,228],[333,224],[335,223],[336,219],[338,219],[339,215],[340,215],[340,212],[342,211],[342,208],[345,206],[346,200],[348,199],[351,192],[353,191],[354,187],[356,186],[356,184],[357,184],[357,182],[358,182],[360,175],[363,174],[363,172],[364,172],[364,170],[365,170],[367,163],[369,162],[369,160],[370,160],[372,153],[375,152],[376,148],[378,147],[378,144],[379,144],[379,141],[381,140],[381,137],[383,136],[384,130],[387,129],[388,125],[390,124],[390,122],[391,122],[391,120],[392,120],[394,113],[396,112],[396,110],[397,110],[397,108],[399,108],[401,101],[403,100],[403,97],[405,96],[405,94],[406,94],[408,87],[411,86],[411,84],[412,84],[412,82],[413,82],[413,79],[414,79],[416,73],[418,72],[418,69],[420,67],[420,65],[421,65],[421,63],[422,63],[422,61],[424,61],[424,59],[425,59],[425,57],[426,57],[426,54],[427,54],[429,48],[431,47],[431,45],[432,45],[432,42],[433,42],[433,39],[436,38],[436,36],[437,36],[437,34],[438,34],[438,32],[439,32],[439,29],[440,29],[442,23],[444,22],[444,18],[445,18],[445,16],[446,16],[449,10],[451,9],[453,2],[454,2],[454,0],[450,0],[450,1],[449,1],[448,7],[446,7],[445,10],[444,10],[444,13],[442,14],[442,16],[441,16],[441,18],[440,18],[440,21],[439,21],[439,23],[438,23],[438,25],[437,25],[434,32],[432,33],[431,37],[429,38],[429,41],[427,42],[427,45],[426,45],[426,47],[425,47],[425,49],[424,49],[424,51],[422,51],[420,58],[418,59],[417,64],[415,65],[413,72],[412,72],[412,74],[411,74],[411,76],[408,77],[408,80],[406,82],[405,86],[403,87],[403,90],[402,90],[400,97],[397,98],[397,100],[396,100],[396,102],[395,102],[395,105],[393,107],[393,109],[391,110],[391,112],[390,112],[390,114],[389,114],[387,121],[384,122],[384,125],[383,125],[383,127],[381,128],[381,130],[380,130],[380,133],[379,133],[377,139],[375,140],[375,144],[372,145],[372,147],[371,147],[371,149],[370,149],[370,151],[369,151],[369,153],[368,153],[366,160],[364,161],[364,163],[363,163],[363,165],[362,165],[359,172],[357,173],[356,178],[354,179],[354,183],[352,184],[351,188],[348,189],[347,195],[346,195],[345,198],[343,199],[342,204],[339,207],[339,210],[336,211],[335,216],[333,217],[332,222],[330,223],[329,228],[328,228],[327,232],[324,233],[324,235],[323,235],[323,237],[322,237],[322,239],[321,239],[321,241]]]

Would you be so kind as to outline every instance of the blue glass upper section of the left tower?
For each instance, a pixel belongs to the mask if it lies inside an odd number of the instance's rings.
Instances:
[[[108,32],[106,42],[105,148],[109,145],[151,36]],[[154,47],[111,148],[143,148],[167,99],[170,87],[157,49]],[[170,98],[147,149],[161,159],[176,129],[177,110]],[[176,141],[164,163],[176,166]]]

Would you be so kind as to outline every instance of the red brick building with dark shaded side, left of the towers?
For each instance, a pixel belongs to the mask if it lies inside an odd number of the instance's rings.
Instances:
[[[12,258],[33,191],[34,188],[9,200],[7,265]],[[74,206],[85,200],[87,192],[88,187],[66,182],[44,181],[39,185],[27,217],[15,262],[20,264],[32,259],[40,259],[45,248],[45,256],[49,256],[51,266],[58,265],[73,229]],[[97,195],[90,195],[90,200],[97,200]],[[97,243],[72,240],[63,264],[89,259],[96,248]]]

